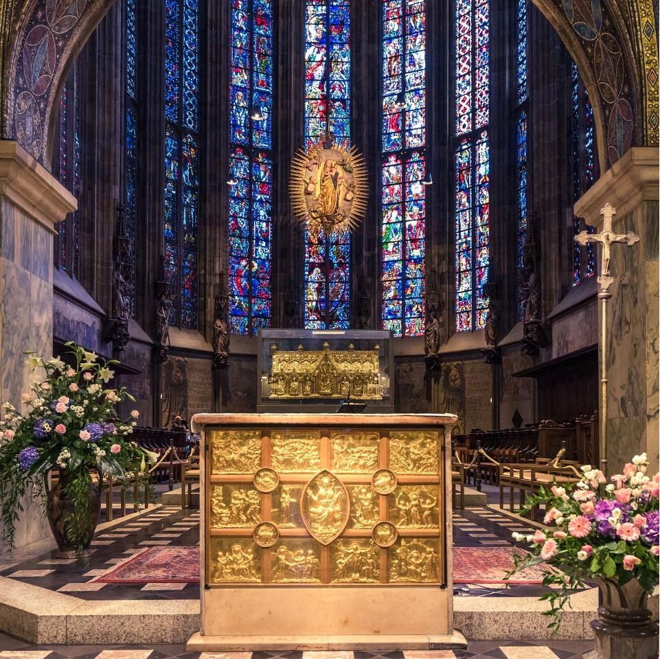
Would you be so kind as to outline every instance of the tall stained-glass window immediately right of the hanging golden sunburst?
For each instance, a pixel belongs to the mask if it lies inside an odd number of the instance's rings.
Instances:
[[[382,326],[424,333],[425,0],[383,0]]]

